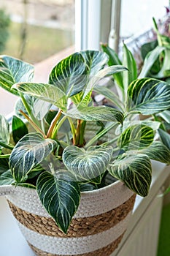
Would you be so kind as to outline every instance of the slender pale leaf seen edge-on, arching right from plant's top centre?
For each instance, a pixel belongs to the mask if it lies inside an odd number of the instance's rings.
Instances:
[[[101,69],[95,76],[93,76],[89,80],[88,85],[85,88],[85,94],[83,98],[85,98],[88,95],[88,93],[93,89],[93,87],[96,86],[99,80],[101,80],[102,78],[105,78],[108,75],[113,75],[115,73],[122,72],[122,71],[128,71],[128,69],[120,65],[115,65],[115,66]]]

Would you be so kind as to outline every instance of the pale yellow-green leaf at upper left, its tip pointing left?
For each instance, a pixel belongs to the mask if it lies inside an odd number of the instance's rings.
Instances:
[[[66,95],[56,86],[45,83],[16,83],[12,88],[66,110]]]

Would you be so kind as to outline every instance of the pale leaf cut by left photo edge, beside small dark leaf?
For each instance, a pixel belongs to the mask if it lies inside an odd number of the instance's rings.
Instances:
[[[9,124],[4,116],[0,115],[0,148],[9,144]]]

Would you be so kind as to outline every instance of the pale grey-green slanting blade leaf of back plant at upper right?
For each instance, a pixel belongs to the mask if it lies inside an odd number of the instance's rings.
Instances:
[[[162,46],[157,46],[154,50],[147,53],[147,56],[144,59],[144,64],[142,67],[142,70],[138,76],[138,78],[146,78],[148,73],[150,72],[150,69],[152,68],[152,65],[155,63],[155,61],[158,59],[158,56],[160,53],[165,50]]]

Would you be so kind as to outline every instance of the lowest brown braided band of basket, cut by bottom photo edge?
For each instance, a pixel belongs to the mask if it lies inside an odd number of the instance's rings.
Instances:
[[[112,244],[109,244],[108,246],[105,246],[96,251],[84,253],[82,255],[69,255],[69,256],[109,256],[109,255],[111,255],[112,252],[115,251],[118,244],[120,244],[120,241],[122,240],[122,238],[123,238],[123,235],[121,235],[119,238],[117,238],[115,241],[113,241]],[[33,251],[35,252],[35,254],[37,256],[68,256],[68,255],[53,255],[51,253],[42,252],[42,250],[37,249],[32,244],[29,244],[29,246],[31,247],[31,249],[33,249]]]

